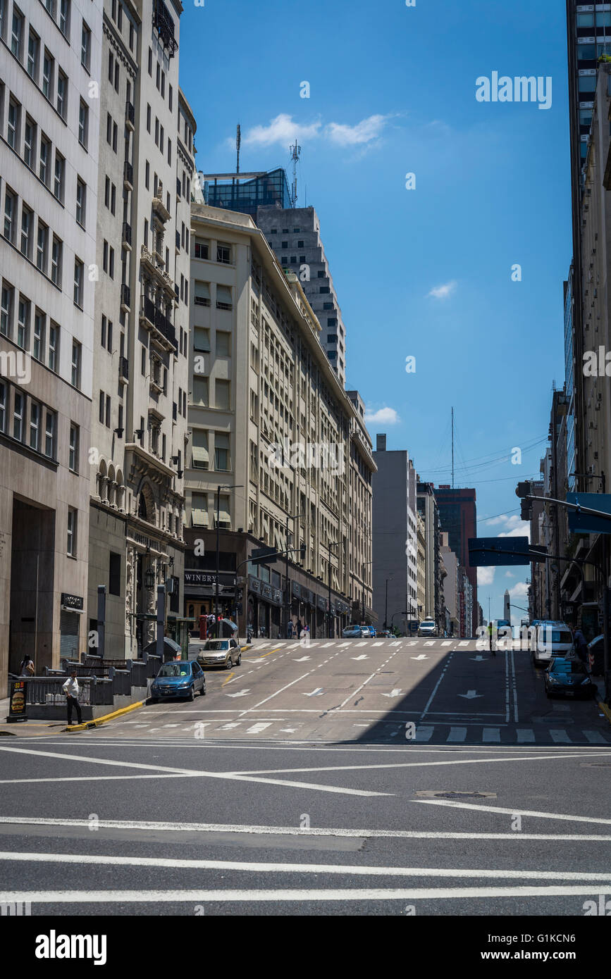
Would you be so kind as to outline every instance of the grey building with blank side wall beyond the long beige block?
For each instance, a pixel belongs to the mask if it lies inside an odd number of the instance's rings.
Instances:
[[[378,435],[373,458],[373,607],[385,629],[418,619],[416,471],[404,449]]]

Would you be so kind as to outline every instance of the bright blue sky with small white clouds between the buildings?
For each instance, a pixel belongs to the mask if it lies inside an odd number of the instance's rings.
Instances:
[[[346,323],[347,387],[363,396],[374,441],[386,432],[423,479],[448,483],[453,405],[455,485],[475,486],[478,517],[497,518],[478,533],[525,532],[515,484],[539,472],[552,382],[564,379],[564,4],[184,3],[180,79],[198,169],[234,168],[238,121],[243,170],[289,169],[298,138],[298,205],[306,188]],[[476,78],[493,71],[550,76],[551,107],[478,102]],[[525,604],[528,573],[496,569],[480,586],[485,616],[489,594],[502,615],[507,586]]]

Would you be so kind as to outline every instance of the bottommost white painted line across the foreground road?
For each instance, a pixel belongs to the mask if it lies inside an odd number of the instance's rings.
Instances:
[[[514,833],[514,836],[521,836]],[[183,890],[183,891],[7,891],[0,892],[2,904],[17,901],[36,905],[58,904],[202,904],[255,903],[258,901],[433,901],[489,898],[541,898],[606,895],[608,884],[553,884],[542,887],[426,887],[426,888],[344,888],[322,890]]]

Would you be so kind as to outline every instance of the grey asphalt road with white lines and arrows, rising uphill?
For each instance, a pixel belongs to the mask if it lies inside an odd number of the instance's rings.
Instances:
[[[611,727],[547,701],[526,653],[284,642],[208,677],[190,704],[0,739],[0,904],[564,916],[611,898]]]

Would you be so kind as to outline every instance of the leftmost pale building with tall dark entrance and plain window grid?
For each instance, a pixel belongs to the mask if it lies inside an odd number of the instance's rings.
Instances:
[[[0,0],[0,683],[86,644],[101,0]]]

